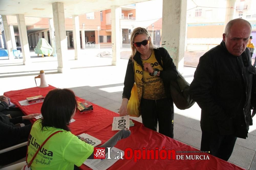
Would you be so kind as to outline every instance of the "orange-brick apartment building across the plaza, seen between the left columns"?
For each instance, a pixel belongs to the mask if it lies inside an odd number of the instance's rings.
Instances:
[[[145,9],[145,6],[147,8]],[[130,44],[131,32],[136,27],[147,28],[154,36],[155,44],[161,42],[162,29],[162,0],[153,0],[121,6],[120,37],[122,44]],[[157,10],[157,14],[148,11]],[[37,9],[35,9],[37,10]],[[38,12],[41,9],[38,9]],[[147,14],[147,16],[145,16]],[[10,29],[13,29],[13,44],[20,44],[19,31],[16,16],[7,16]],[[45,38],[50,44],[54,42],[50,34],[50,19],[38,17],[25,17],[29,47],[35,48],[40,38]],[[73,47],[73,20],[72,17],[65,18],[65,28],[68,48]],[[52,26],[53,27],[53,26]],[[3,25],[0,26],[2,41],[0,47],[6,48]],[[81,48],[88,44],[111,44],[111,9],[95,11],[79,15],[79,30]],[[54,30],[53,30],[54,31]],[[12,31],[10,31],[12,32]],[[0,35],[1,37],[1,35]],[[1,46],[2,45],[2,46]],[[15,49],[15,48],[13,48]]]

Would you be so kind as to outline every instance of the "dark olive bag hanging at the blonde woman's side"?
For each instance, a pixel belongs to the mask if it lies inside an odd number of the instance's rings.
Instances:
[[[178,70],[177,70],[178,71]],[[189,95],[190,84],[178,71],[178,78],[170,83],[170,93],[174,104],[180,110],[185,110],[193,106],[195,101]]]

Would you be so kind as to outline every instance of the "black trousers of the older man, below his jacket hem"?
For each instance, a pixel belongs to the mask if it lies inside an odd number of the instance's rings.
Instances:
[[[201,151],[210,151],[211,155],[228,161],[236,140],[234,135],[219,135],[202,130]]]

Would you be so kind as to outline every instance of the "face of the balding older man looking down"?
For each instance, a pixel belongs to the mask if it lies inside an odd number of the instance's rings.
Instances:
[[[228,35],[223,34],[223,40],[228,52],[234,56],[240,56],[246,49],[251,29],[248,24],[234,23]]]

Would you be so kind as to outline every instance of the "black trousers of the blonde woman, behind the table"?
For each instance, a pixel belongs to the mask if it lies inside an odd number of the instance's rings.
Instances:
[[[159,100],[141,99],[141,117],[145,127],[154,131],[159,124],[159,133],[173,138],[173,102],[167,98]]]

